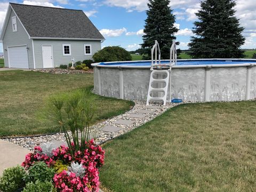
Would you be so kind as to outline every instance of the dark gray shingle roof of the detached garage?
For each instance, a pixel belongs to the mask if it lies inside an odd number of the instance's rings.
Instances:
[[[10,4],[31,37],[104,39],[82,10]]]

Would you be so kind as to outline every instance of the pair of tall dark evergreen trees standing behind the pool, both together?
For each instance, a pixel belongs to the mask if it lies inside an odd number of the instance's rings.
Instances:
[[[162,59],[169,59],[172,40],[176,39],[175,15],[170,0],[149,0],[145,35],[139,53],[150,59],[150,50],[157,40]],[[192,58],[244,58],[241,46],[245,42],[244,30],[235,17],[235,0],[203,0],[196,13],[193,33],[190,37],[189,54]],[[179,42],[177,42],[179,44]],[[178,53],[180,50],[178,51]]]

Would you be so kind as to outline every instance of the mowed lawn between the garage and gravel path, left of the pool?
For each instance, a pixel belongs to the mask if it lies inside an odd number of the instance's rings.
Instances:
[[[93,74],[48,74],[34,71],[0,72],[0,137],[59,132],[41,118],[47,98],[75,89],[92,89]],[[124,113],[131,101],[94,95],[97,121]]]

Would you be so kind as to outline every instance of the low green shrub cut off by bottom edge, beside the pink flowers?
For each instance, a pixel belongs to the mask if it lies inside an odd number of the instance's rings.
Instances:
[[[26,184],[26,187],[23,189],[23,192],[53,192],[56,191],[52,182],[40,182],[36,181],[35,183],[29,182]]]

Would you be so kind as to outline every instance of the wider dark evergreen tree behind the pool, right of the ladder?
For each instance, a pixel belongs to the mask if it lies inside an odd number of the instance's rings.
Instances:
[[[196,13],[190,55],[193,58],[244,58],[244,30],[235,17],[234,0],[204,0]]]

